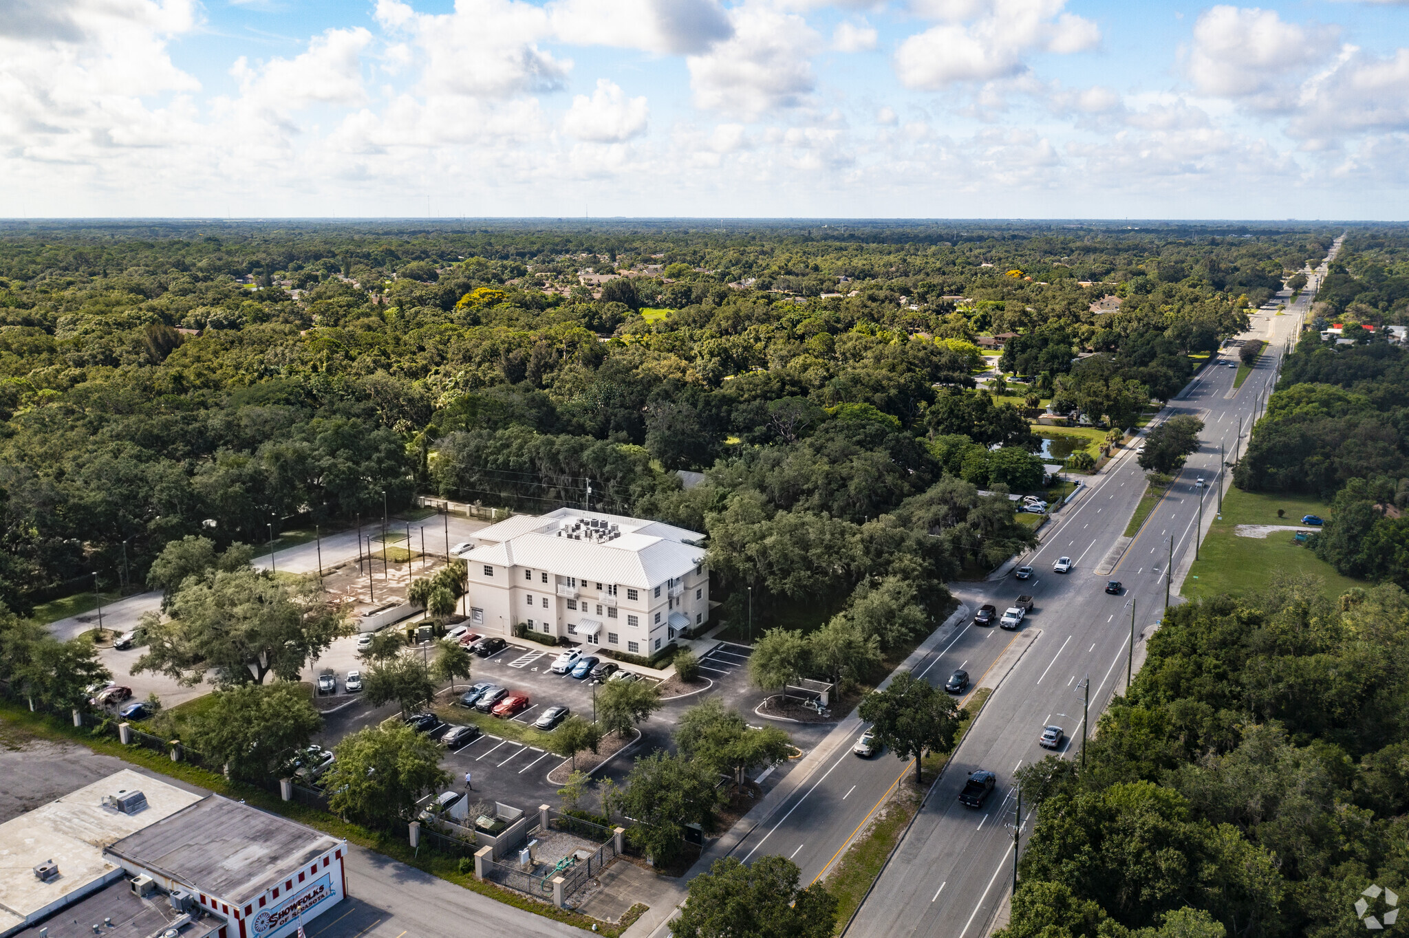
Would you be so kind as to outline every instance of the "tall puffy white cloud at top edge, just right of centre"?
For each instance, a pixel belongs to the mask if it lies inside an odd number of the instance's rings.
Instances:
[[[810,58],[820,38],[795,14],[761,4],[730,11],[734,34],[686,59],[695,104],[744,120],[803,104],[816,87]]]

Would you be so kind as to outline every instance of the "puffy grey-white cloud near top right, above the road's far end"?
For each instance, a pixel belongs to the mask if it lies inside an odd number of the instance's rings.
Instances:
[[[1334,27],[1286,23],[1275,10],[1217,6],[1193,24],[1186,72],[1205,94],[1275,110],[1291,103],[1285,76],[1324,58],[1336,35]]]

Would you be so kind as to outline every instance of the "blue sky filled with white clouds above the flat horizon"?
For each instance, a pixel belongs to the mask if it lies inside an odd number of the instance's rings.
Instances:
[[[1405,218],[1409,0],[0,0],[0,217]]]

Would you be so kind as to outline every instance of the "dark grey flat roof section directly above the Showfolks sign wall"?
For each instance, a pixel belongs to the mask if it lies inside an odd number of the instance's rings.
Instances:
[[[108,848],[108,853],[234,903],[249,901],[340,841],[297,821],[211,794]]]

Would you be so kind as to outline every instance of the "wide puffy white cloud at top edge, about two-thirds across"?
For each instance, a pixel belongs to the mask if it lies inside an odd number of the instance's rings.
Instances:
[[[1096,48],[1095,23],[1065,13],[1065,0],[929,0],[914,11],[940,20],[896,51],[906,87],[938,90],[955,82],[988,82],[1027,70],[1034,52],[1071,55]]]

